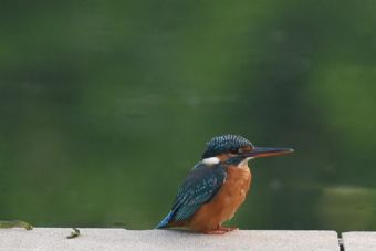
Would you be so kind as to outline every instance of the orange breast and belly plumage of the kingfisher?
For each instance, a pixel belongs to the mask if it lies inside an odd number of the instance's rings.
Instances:
[[[229,167],[220,190],[210,202],[197,210],[187,222],[188,227],[194,231],[211,230],[231,219],[244,202],[250,184],[251,172],[247,164],[242,167]]]

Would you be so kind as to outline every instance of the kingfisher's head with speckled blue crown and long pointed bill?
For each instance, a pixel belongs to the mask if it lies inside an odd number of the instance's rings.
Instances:
[[[243,160],[260,157],[272,157],[291,154],[291,148],[280,147],[255,147],[250,140],[238,135],[222,135],[213,137],[207,143],[207,148],[202,154],[202,163],[218,164],[227,161],[238,165]]]

